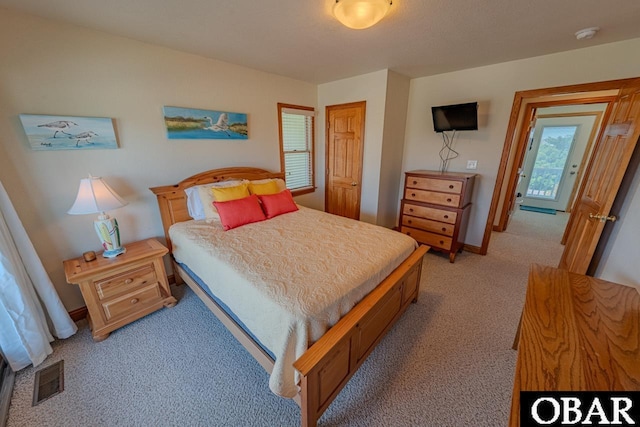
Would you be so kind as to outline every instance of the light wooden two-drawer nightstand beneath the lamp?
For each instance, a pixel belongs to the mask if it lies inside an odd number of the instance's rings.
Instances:
[[[94,341],[102,341],[122,326],[162,307],[173,307],[162,257],[169,252],[156,239],[125,245],[127,252],[115,258],[98,254],[64,261],[67,282],[80,286],[89,312]]]

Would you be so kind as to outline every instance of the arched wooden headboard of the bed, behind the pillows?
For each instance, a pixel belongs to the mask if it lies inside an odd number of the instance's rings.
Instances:
[[[164,228],[164,236],[167,239],[169,251],[171,251],[169,227],[177,222],[189,221],[191,219],[189,211],[187,210],[187,195],[184,192],[185,188],[193,187],[194,185],[227,181],[230,179],[255,180],[265,178],[284,179],[284,172],[269,172],[264,169],[251,167],[212,169],[183,179],[175,185],[150,188],[149,190],[153,191],[153,194],[158,198],[162,227]]]

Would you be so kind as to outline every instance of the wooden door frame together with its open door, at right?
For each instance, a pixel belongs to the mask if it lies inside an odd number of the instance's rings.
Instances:
[[[610,219],[609,211],[640,135],[640,127],[635,126],[640,121],[640,79],[516,93],[481,254],[487,253],[492,230],[502,231],[506,228],[508,213],[512,212],[510,208],[515,203],[517,171],[522,166],[536,110],[563,103],[608,104],[592,156],[579,186],[578,199],[567,226],[569,237],[559,263],[562,268],[570,271],[587,270],[604,223]],[[603,177],[607,179],[603,180]]]

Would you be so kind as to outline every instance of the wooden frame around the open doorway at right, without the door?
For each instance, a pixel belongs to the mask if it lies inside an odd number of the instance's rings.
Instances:
[[[619,80],[608,80],[603,82],[595,82],[595,83],[583,83],[576,85],[568,85],[568,86],[557,86],[551,88],[543,88],[543,89],[533,89],[527,91],[519,91],[515,93],[513,105],[511,108],[511,115],[509,118],[509,126],[507,128],[507,133],[505,136],[505,142],[502,149],[502,156],[500,159],[500,166],[498,167],[498,174],[496,176],[496,183],[493,189],[493,196],[491,199],[491,206],[489,208],[489,214],[487,216],[487,223],[485,226],[484,236],[482,239],[482,245],[480,247],[480,254],[486,255],[489,242],[491,240],[491,232],[494,230],[494,222],[496,213],[498,212],[498,205],[501,201],[502,194],[502,186],[503,183],[506,182],[506,192],[504,193],[504,200],[502,204],[501,217],[500,222],[496,225],[496,231],[503,231],[506,228],[506,221],[508,219],[508,208],[509,208],[509,198],[513,197],[515,192],[515,185],[517,184],[517,170],[518,165],[521,164],[524,150],[527,143],[528,136],[528,123],[523,120],[523,117],[530,117],[533,108],[541,108],[548,106],[556,106],[556,105],[566,105],[566,104],[595,104],[607,102],[609,106],[607,107],[602,123],[605,123],[608,119],[608,116],[611,113],[611,102],[615,99],[615,96],[611,94],[601,95],[595,94],[590,96],[589,92],[598,92],[598,91],[612,91],[612,90],[620,90],[626,83],[636,80],[635,78],[630,79],[619,79]],[[539,102],[536,102],[538,98],[545,97],[553,97],[558,95],[569,95],[570,97],[567,99],[545,99]],[[571,95],[574,95],[571,97]],[[521,112],[524,112],[521,114]],[[599,132],[602,132],[602,125]],[[596,147],[597,149],[597,147]],[[512,153],[513,156],[511,155]],[[509,160],[512,159],[511,167],[508,169]],[[588,172],[587,172],[588,173]],[[505,181],[505,177],[508,176],[508,180]],[[583,180],[586,176],[582,177]]]

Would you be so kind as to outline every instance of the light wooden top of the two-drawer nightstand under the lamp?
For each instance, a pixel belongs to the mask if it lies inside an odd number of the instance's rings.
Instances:
[[[141,259],[160,257],[169,252],[163,244],[156,239],[141,240],[139,242],[124,245],[127,251],[115,258],[105,258],[102,252],[96,254],[93,261],[85,261],[82,256],[64,261],[64,275],[67,283],[79,283],[89,275],[102,271],[108,271],[113,267],[125,266]]]

